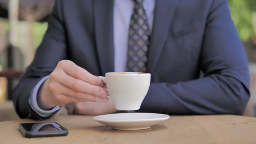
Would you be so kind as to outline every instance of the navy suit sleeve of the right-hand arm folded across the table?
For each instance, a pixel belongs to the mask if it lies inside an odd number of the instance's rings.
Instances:
[[[226,0],[213,0],[200,53],[200,69],[204,73],[201,79],[176,84],[151,83],[140,111],[243,115],[249,100],[248,64]]]

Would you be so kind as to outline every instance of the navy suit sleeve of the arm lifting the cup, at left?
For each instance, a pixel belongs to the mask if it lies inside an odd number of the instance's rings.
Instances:
[[[13,92],[14,108],[20,118],[42,119],[29,104],[30,92],[40,79],[53,72],[59,61],[67,59],[66,51],[66,33],[65,25],[62,23],[61,0],[56,0],[53,13],[49,16],[48,29],[43,42],[36,50],[33,62],[26,69]]]

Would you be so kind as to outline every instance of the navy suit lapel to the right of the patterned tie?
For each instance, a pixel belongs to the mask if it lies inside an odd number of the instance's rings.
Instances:
[[[154,24],[148,52],[148,72],[153,73],[167,39],[179,0],[156,0]]]

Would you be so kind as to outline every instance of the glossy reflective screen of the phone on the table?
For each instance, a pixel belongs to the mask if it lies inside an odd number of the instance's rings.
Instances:
[[[26,131],[63,131],[62,127],[55,122],[40,122],[40,123],[23,123],[22,127]]]

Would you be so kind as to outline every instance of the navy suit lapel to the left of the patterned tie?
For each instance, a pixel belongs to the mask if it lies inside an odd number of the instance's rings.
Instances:
[[[93,0],[96,49],[102,75],[114,72],[113,0]]]

